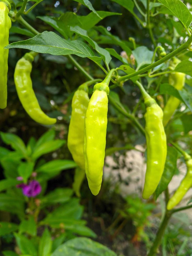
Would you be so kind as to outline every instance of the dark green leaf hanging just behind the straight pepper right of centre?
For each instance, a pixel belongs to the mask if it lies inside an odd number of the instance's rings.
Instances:
[[[165,167],[159,185],[155,190],[156,199],[168,187],[177,167],[177,150],[174,147],[167,147]]]

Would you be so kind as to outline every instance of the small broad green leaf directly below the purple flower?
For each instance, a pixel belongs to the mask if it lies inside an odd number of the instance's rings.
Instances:
[[[31,236],[37,235],[37,224],[33,216],[29,216],[27,220],[22,220],[22,222],[19,225],[19,233],[27,233],[28,235]]]

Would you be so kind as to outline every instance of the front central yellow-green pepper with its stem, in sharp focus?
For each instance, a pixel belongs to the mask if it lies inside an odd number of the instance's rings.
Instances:
[[[94,86],[94,92],[85,114],[84,159],[85,173],[89,188],[97,195],[101,188],[106,146],[107,111],[109,82],[114,72],[112,69],[103,82]]]

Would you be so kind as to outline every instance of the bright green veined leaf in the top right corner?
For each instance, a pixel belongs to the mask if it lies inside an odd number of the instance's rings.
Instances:
[[[192,15],[187,6],[181,0],[159,0],[188,28],[192,21]]]

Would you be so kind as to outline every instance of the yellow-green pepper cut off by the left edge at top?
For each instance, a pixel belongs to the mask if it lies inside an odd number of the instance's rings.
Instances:
[[[11,20],[9,9],[4,2],[0,2],[0,108],[7,107],[7,72],[9,50],[4,49],[9,44],[9,29]]]

